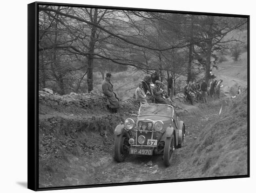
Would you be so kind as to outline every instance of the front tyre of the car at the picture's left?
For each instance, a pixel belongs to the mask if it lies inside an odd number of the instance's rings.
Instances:
[[[125,148],[125,145],[128,146],[128,138],[122,133],[120,135],[115,136],[115,148],[114,148],[114,159],[117,162],[124,161],[125,157],[128,154],[128,149]]]

